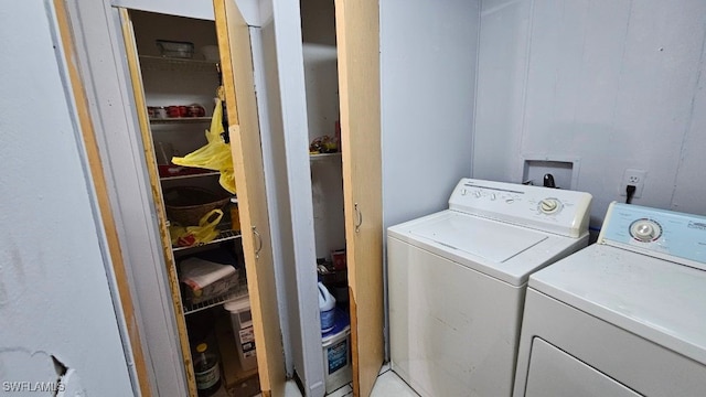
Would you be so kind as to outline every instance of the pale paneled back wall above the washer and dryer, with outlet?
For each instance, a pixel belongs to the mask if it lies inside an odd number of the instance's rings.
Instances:
[[[703,1],[483,1],[473,176],[575,158],[593,227],[628,168],[648,171],[634,204],[706,214],[705,20]]]

